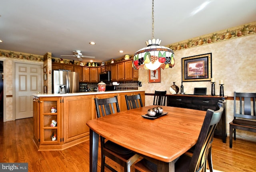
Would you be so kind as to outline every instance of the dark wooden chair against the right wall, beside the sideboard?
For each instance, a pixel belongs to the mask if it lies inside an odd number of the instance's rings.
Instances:
[[[229,123],[230,148],[232,148],[233,133],[234,140],[236,140],[236,129],[256,132],[255,98],[256,93],[234,92],[234,119]],[[236,99],[238,99],[238,101]],[[236,104],[238,104],[238,108]]]

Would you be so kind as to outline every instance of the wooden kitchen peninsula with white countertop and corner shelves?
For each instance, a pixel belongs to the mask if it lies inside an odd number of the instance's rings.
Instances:
[[[94,99],[118,96],[120,111],[124,111],[125,95],[134,94],[141,95],[145,106],[145,91],[141,90],[33,94],[33,141],[38,151],[64,150],[89,140],[86,122],[96,118]]]

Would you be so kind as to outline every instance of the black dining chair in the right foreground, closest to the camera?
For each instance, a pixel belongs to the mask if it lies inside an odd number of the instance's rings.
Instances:
[[[220,103],[219,103],[220,104]],[[214,111],[208,109],[192,156],[183,154],[175,162],[175,172],[206,172],[208,152],[212,146],[212,137],[220,121],[223,108]],[[157,166],[147,158],[134,164],[135,172],[157,172]]]

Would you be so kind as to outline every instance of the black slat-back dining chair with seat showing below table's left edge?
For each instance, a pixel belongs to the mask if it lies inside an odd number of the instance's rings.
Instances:
[[[112,98],[98,99],[95,98],[95,106],[97,117],[110,115],[116,112],[120,112],[117,96]],[[124,172],[130,172],[130,166],[140,157],[134,154],[132,151],[113,143],[112,141],[106,141],[106,139],[100,136],[101,147],[101,172],[104,172],[105,166],[111,171],[116,171],[110,165],[106,164],[105,157],[114,160],[118,164],[124,167]]]

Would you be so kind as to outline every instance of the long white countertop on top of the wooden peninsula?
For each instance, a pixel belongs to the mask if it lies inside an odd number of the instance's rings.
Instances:
[[[90,94],[110,94],[110,93],[122,93],[122,92],[140,92],[144,90],[123,90],[123,91],[105,91],[105,92],[77,92],[77,93],[67,93],[67,94],[47,94],[47,93],[35,93],[32,94],[36,97],[64,97],[64,96],[83,96]]]

